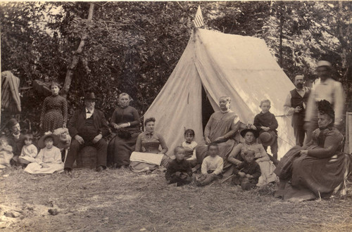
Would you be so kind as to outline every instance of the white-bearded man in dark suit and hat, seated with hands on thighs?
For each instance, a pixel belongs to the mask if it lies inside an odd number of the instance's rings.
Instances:
[[[106,169],[108,144],[102,138],[109,134],[109,130],[103,112],[95,109],[96,100],[94,93],[87,93],[84,96],[85,107],[76,110],[68,123],[68,131],[72,141],[65,160],[64,170],[66,173],[72,171],[77,153],[84,146],[93,146],[98,150],[96,172]]]

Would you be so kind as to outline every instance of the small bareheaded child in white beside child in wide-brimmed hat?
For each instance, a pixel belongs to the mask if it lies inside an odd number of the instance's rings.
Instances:
[[[22,167],[27,167],[31,162],[35,162],[35,157],[38,154],[37,147],[33,145],[33,134],[31,131],[24,133],[25,145],[23,145],[18,162]]]

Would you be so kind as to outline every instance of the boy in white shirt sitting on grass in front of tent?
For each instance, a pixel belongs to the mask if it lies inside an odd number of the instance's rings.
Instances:
[[[208,145],[208,156],[201,164],[202,176],[199,179],[196,179],[197,186],[206,186],[219,178],[222,168],[224,167],[224,160],[222,160],[222,157],[220,157],[218,153],[218,144],[210,143]]]

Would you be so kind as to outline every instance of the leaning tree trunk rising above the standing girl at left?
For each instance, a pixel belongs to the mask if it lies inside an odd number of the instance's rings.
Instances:
[[[92,21],[93,18],[93,11],[94,11],[94,3],[91,3],[89,6],[89,13],[88,13],[88,21]],[[73,70],[75,69],[75,67],[77,66],[78,61],[80,60],[80,53],[82,53],[83,51],[83,47],[84,47],[84,42],[85,39],[87,39],[87,34],[83,34],[81,41],[80,41],[80,45],[77,48],[77,51],[75,51],[73,58],[72,58],[72,62],[71,64],[68,66],[68,70],[66,72],[66,77],[65,77],[65,83],[63,84],[63,97],[67,97],[68,95],[68,91],[70,90],[70,85],[72,82],[72,76],[73,76]]]

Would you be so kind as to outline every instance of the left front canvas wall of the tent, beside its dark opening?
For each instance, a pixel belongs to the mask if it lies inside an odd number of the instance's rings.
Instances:
[[[168,81],[144,115],[155,117],[155,131],[165,138],[168,155],[184,141],[184,130],[194,129],[196,142],[204,144],[201,113],[201,79],[193,60],[193,41],[189,40]]]

